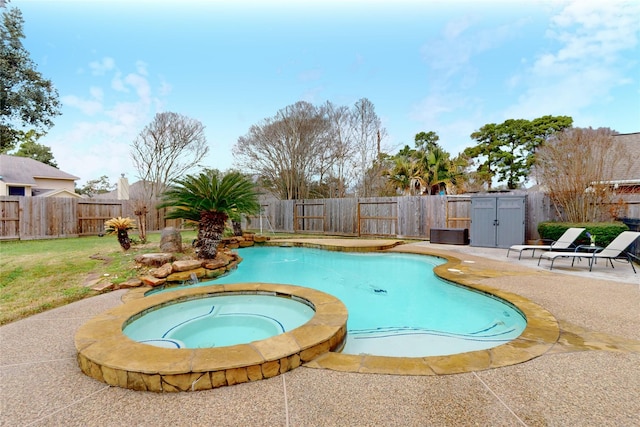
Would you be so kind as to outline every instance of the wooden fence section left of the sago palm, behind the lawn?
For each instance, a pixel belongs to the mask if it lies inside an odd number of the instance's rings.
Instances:
[[[52,239],[97,235],[104,222],[122,216],[137,220],[135,200],[72,199],[67,197],[0,197],[0,240]],[[179,227],[181,221],[165,220],[165,209],[149,203],[147,231]],[[137,221],[136,221],[137,223]]]

